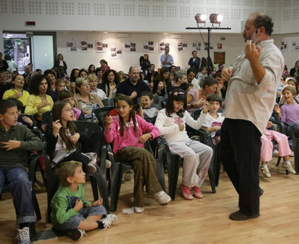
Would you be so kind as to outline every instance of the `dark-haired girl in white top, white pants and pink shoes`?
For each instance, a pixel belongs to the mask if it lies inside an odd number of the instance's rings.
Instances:
[[[207,145],[191,140],[185,130],[185,123],[195,130],[202,127],[209,111],[209,103],[204,102],[204,109],[197,121],[186,111],[186,106],[186,93],[181,89],[172,91],[165,109],[162,109],[156,118],[155,126],[168,142],[170,151],[184,158],[181,192],[185,199],[191,200],[193,196],[190,188],[194,190],[194,197],[203,197],[200,187],[207,176],[213,150]]]

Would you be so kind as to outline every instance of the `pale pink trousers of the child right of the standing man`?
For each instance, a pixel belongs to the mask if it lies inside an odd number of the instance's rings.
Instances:
[[[268,162],[272,160],[273,144],[271,141],[278,144],[278,151],[280,157],[290,155],[291,149],[289,147],[288,137],[275,130],[264,130],[264,135],[261,135],[261,161]]]

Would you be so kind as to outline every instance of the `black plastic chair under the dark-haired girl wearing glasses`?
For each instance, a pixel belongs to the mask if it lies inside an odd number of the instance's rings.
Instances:
[[[88,121],[74,121],[77,131],[83,132],[86,137],[90,137],[94,131],[99,130],[97,123],[88,122]],[[79,148],[81,145],[79,144]],[[109,213],[109,199],[108,199],[108,188],[107,188],[107,179],[106,179],[106,145],[102,146],[101,149],[101,161],[99,165],[99,172],[95,174],[90,174],[90,182],[92,185],[92,193],[95,201],[99,199],[99,193],[103,198],[103,206],[106,208],[106,211]]]

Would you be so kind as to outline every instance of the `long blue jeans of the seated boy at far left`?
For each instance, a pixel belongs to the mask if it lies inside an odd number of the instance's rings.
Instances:
[[[17,224],[35,222],[32,204],[32,185],[26,169],[21,167],[0,167],[0,194],[5,180],[13,195]]]

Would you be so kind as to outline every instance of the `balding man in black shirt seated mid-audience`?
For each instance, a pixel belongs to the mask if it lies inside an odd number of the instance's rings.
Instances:
[[[149,86],[140,80],[139,68],[131,66],[129,69],[129,78],[118,85],[116,93],[127,95],[134,100],[134,103],[136,103],[137,98],[140,97],[143,91],[150,91]]]

